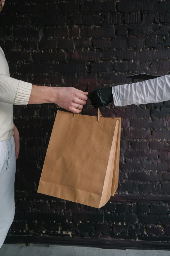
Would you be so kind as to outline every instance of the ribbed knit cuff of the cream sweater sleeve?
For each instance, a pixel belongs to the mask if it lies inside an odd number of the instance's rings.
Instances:
[[[13,104],[27,105],[30,98],[31,89],[32,89],[32,84],[19,80],[17,93],[15,95]]]

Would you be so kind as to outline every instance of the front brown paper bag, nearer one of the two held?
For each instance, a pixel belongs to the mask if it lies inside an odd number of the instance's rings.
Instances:
[[[116,118],[102,118],[100,111],[98,120],[58,111],[38,193],[104,206],[113,187],[118,127]]]

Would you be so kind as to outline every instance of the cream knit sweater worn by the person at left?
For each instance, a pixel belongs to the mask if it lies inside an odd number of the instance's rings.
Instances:
[[[32,84],[10,77],[4,52],[0,47],[0,141],[13,136],[13,105],[27,105]]]

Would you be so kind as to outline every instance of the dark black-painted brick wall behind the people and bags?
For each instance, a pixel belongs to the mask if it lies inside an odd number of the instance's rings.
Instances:
[[[0,44],[12,77],[92,91],[170,71],[170,1],[7,0]],[[37,194],[58,107],[15,107],[21,152],[9,234],[170,240],[170,102],[101,110],[122,117],[120,185],[97,210]],[[83,113],[96,115],[90,102]]]

